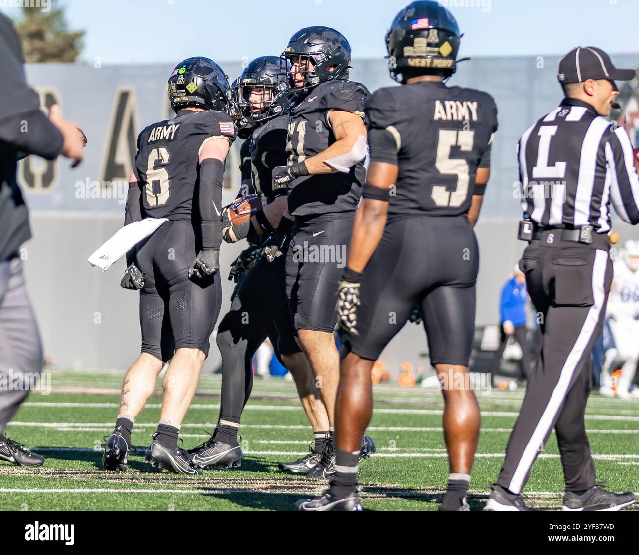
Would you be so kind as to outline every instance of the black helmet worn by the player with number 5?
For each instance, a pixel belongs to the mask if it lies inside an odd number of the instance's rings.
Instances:
[[[450,77],[456,70],[460,39],[457,21],[439,2],[408,4],[386,35],[390,77],[401,83],[406,74]]]

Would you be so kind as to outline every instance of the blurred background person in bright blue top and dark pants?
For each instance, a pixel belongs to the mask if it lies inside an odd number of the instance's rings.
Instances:
[[[500,363],[504,349],[511,337],[520,344],[521,359],[520,380],[530,378],[530,350],[526,330],[526,305],[528,304],[528,289],[526,288],[526,275],[516,265],[511,277],[502,287],[499,303],[501,317],[501,337],[499,347],[495,351],[495,358],[490,369],[491,376],[497,376],[500,371]]]

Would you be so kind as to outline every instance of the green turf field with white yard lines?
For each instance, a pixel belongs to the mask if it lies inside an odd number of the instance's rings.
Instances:
[[[101,469],[103,437],[118,413],[121,372],[48,370],[52,392],[33,393],[8,427],[12,439],[47,457],[40,468],[0,464],[0,508],[5,510],[291,510],[297,499],[325,483],[282,475],[279,460],[307,450],[311,429],[292,382],[256,379],[243,414],[241,469],[178,476],[144,463],[144,449],[157,426],[160,397],[153,397],[135,423],[141,446],[125,473]],[[158,390],[160,384],[158,382]],[[436,510],[446,484],[447,457],[441,430],[440,392],[374,386],[375,413],[369,434],[377,453],[360,465],[362,505],[371,510]],[[219,407],[219,376],[203,376],[181,429],[186,448],[206,439]],[[470,504],[481,510],[498,475],[509,430],[523,390],[479,393],[482,433]],[[639,491],[639,401],[604,399],[594,393],[586,416],[597,476],[608,488]],[[562,469],[551,436],[525,490],[528,505],[558,508]]]

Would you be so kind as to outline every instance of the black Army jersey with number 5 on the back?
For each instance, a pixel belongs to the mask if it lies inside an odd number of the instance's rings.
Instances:
[[[385,129],[397,148],[396,191],[389,214],[465,214],[477,168],[489,167],[497,106],[487,93],[422,81],[376,91],[367,128]]]

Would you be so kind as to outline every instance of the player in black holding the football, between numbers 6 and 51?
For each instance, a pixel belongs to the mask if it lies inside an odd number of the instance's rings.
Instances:
[[[273,168],[286,163],[286,130],[289,103],[283,95],[286,84],[279,57],[254,59],[233,84],[232,93],[238,122],[238,135],[246,139],[240,148],[242,187],[233,206],[246,202],[246,195],[262,195],[268,204],[249,221],[231,225],[229,208],[222,210],[222,234],[228,242],[248,238],[247,248],[231,265],[238,287],[231,308],[222,318],[217,345],[222,354],[222,402],[219,420],[211,438],[190,450],[193,464],[240,466],[242,449],[238,428],[242,410],[252,390],[251,361],[256,349],[269,337],[275,353],[291,372],[311,422],[315,442],[311,452],[280,469],[305,473],[320,458],[328,433],[328,417],[315,386],[309,361],[295,342],[284,295],[284,257],[270,264],[261,255],[259,238],[277,227],[286,208],[286,190],[272,186]],[[247,137],[248,135],[248,137]],[[226,222],[226,223],[224,223]],[[286,246],[283,247],[286,249]],[[247,268],[250,266],[250,269]],[[247,271],[245,271],[247,270]]]

